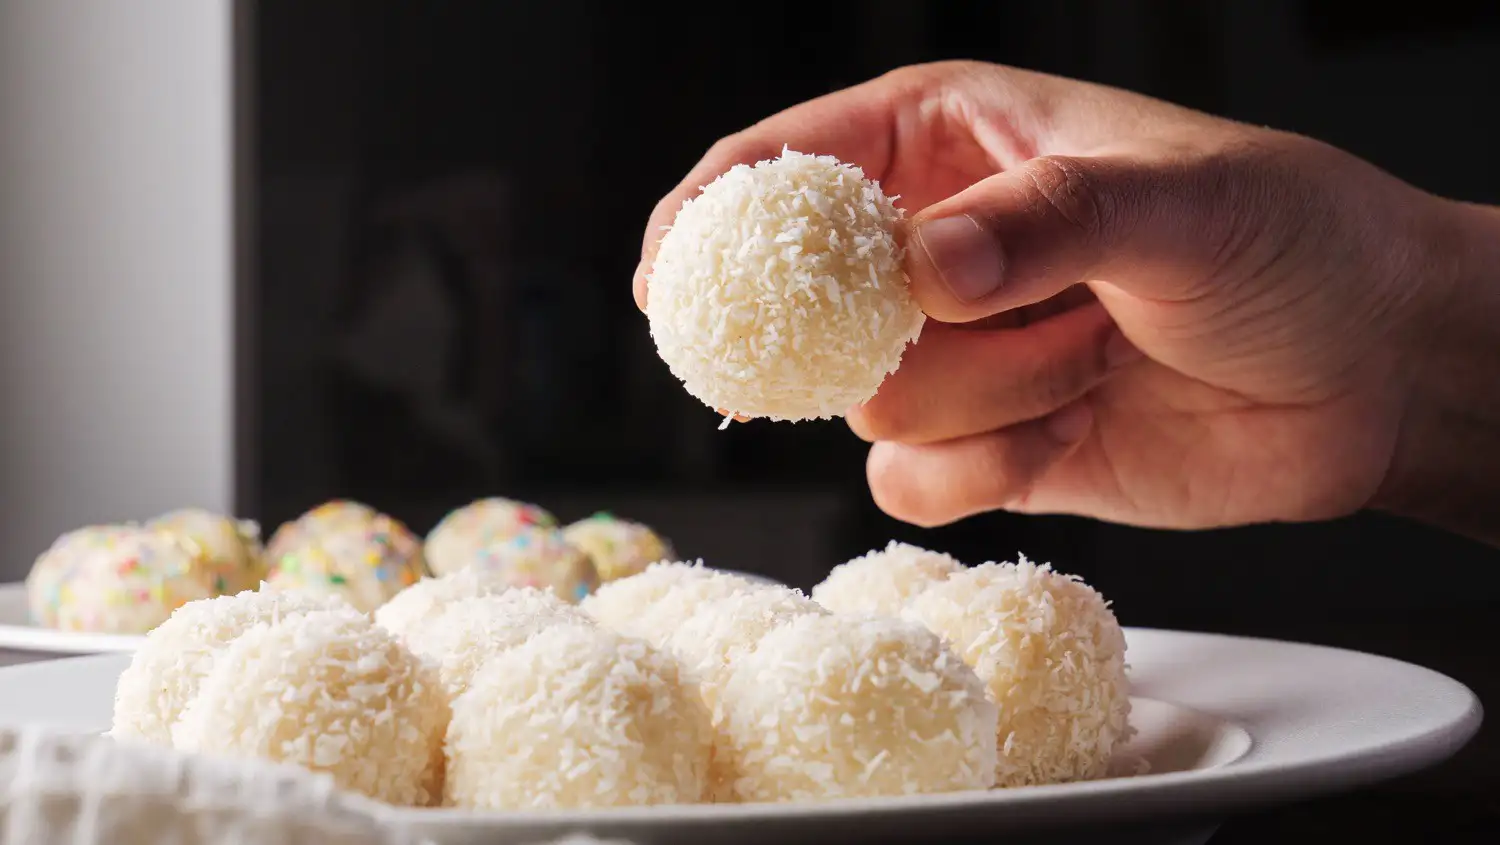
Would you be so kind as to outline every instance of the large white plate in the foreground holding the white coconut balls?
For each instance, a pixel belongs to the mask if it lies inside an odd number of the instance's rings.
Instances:
[[[668,842],[1202,843],[1232,810],[1300,800],[1432,765],[1478,731],[1452,678],[1386,657],[1266,639],[1126,629],[1140,731],[1089,783],[838,800],[585,812],[388,809],[438,845],[524,843],[573,831]],[[110,723],[123,654],[0,669],[0,723]]]

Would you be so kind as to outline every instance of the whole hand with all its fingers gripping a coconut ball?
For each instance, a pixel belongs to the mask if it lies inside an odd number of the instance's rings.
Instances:
[[[1316,141],[1008,68],[896,71],[716,144],[648,225],[782,146],[861,165],[909,215],[933,318],[850,428],[888,513],[1200,528],[1370,504],[1422,327],[1456,284],[1452,203]]]

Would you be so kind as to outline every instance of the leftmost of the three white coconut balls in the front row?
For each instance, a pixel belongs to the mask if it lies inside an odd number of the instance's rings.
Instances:
[[[297,764],[426,806],[447,720],[432,666],[368,617],[321,611],[258,624],[224,648],[172,735],[183,750]]]

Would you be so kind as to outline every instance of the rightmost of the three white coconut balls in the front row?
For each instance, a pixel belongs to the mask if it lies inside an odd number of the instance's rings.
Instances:
[[[996,708],[938,635],[807,614],[730,668],[716,767],[740,801],[987,789]]]

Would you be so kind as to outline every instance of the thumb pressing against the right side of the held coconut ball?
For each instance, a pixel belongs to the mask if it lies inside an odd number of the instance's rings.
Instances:
[[[1198,183],[1203,183],[1202,186]],[[1046,156],[912,219],[908,275],[930,317],[970,323],[1104,281],[1185,297],[1234,231],[1230,198],[1182,164]],[[1184,273],[1185,269],[1200,272]]]

